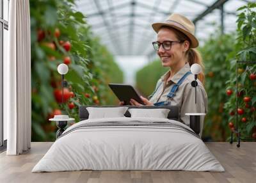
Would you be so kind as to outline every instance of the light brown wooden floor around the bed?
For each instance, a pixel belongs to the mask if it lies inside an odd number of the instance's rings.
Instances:
[[[241,147],[229,143],[206,143],[225,172],[195,171],[64,171],[31,173],[52,143],[32,143],[22,155],[0,154],[0,182],[256,182],[256,143]]]

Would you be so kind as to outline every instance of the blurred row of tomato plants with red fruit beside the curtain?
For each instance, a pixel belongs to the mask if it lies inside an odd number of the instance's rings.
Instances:
[[[31,0],[29,5],[32,141],[52,141],[56,134],[48,125],[50,117],[69,115],[78,122],[79,106],[113,104],[108,83],[122,83],[123,74],[112,54],[93,35],[85,15],[76,11],[73,0]],[[60,63],[68,65],[63,103],[61,76],[56,69]],[[83,93],[97,96],[97,100]]]

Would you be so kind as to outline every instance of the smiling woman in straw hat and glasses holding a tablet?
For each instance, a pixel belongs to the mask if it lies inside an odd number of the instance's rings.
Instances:
[[[149,96],[150,100],[144,97],[141,99],[147,106],[180,106],[180,120],[189,125],[189,116],[185,113],[207,113],[207,94],[202,84],[204,73],[198,74],[196,104],[195,88],[191,86],[195,80],[190,72],[191,65],[198,63],[204,68],[199,52],[194,49],[198,47],[195,26],[186,17],[173,13],[165,22],[154,23],[152,27],[157,33],[157,41],[152,43],[154,49],[163,67],[170,67],[170,70],[157,81],[155,91]],[[134,99],[130,102],[134,106],[141,106]],[[202,122],[204,117],[201,118]]]

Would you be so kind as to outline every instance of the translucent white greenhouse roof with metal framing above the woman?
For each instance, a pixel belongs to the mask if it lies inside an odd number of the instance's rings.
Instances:
[[[196,25],[200,44],[216,30],[236,30],[237,8],[252,1],[242,0],[79,0],[77,10],[84,13],[92,31],[115,55],[154,54],[151,42],[156,33],[153,22],[171,13],[185,15]],[[221,16],[223,15],[223,16]]]

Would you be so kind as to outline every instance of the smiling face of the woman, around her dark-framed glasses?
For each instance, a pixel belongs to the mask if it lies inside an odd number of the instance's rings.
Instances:
[[[157,42],[163,43],[164,41],[182,41],[177,38],[173,29],[161,28],[157,33]],[[189,42],[186,40],[182,43],[173,43],[172,48],[168,51],[163,49],[163,45],[157,51],[161,59],[163,67],[173,67],[179,65],[180,62],[185,63],[185,52],[189,49]]]

